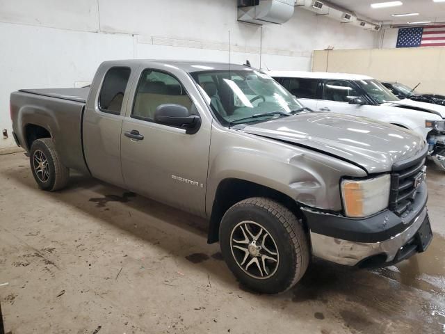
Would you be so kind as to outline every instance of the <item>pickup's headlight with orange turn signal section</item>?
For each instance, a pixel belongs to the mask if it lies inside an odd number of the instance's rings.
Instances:
[[[341,181],[341,195],[346,216],[361,218],[387,208],[390,185],[389,174],[368,180]]]

